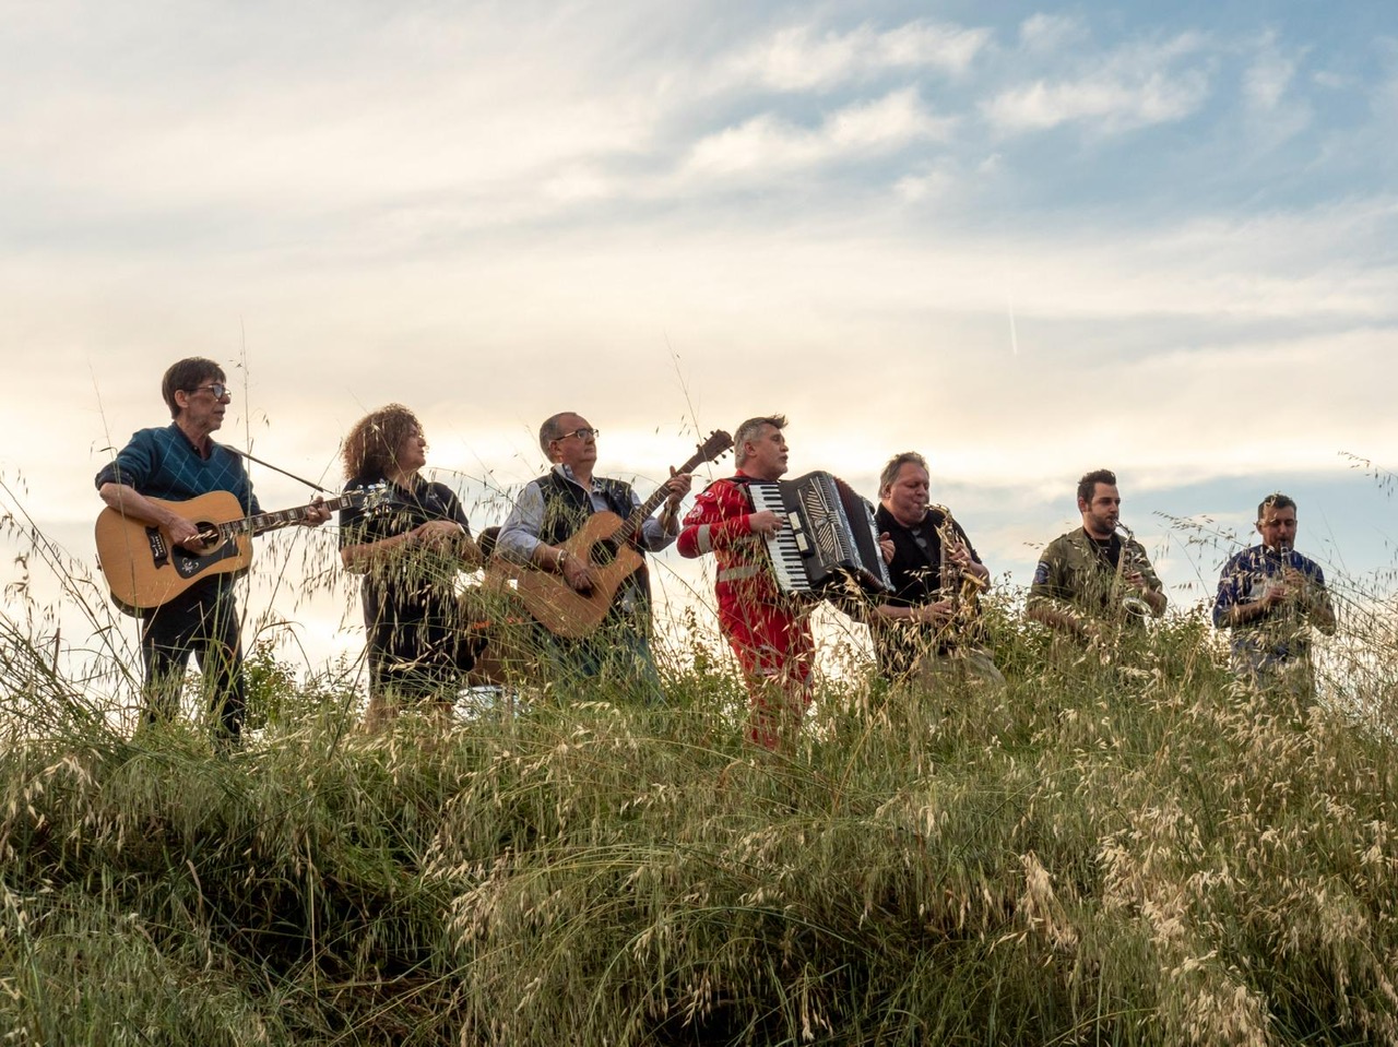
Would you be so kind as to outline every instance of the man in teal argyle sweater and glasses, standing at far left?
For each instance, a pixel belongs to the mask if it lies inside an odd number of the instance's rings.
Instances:
[[[245,513],[260,513],[242,460],[211,439],[232,400],[226,383],[224,369],[210,359],[192,356],[171,365],[161,382],[161,396],[173,421],[134,433],[96,474],[102,500],[123,516],[164,527],[175,545],[192,548],[200,545],[196,523],[151,499],[185,502],[228,491]],[[302,523],[319,527],[329,519],[330,512],[317,505],[306,510]],[[147,723],[179,712],[185,670],[190,654],[197,654],[215,714],[215,739],[236,746],[242,739],[246,688],[233,576],[214,573],[200,579],[144,611],[141,618]]]

